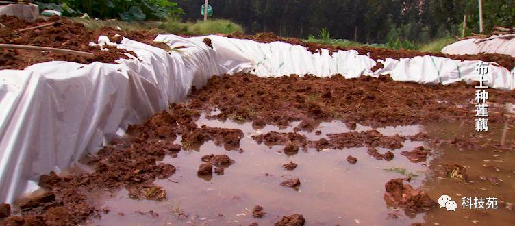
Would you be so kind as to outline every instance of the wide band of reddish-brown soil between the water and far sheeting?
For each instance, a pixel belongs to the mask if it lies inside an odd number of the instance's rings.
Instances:
[[[322,97],[327,90],[332,93],[329,99]],[[425,86],[392,81],[387,76],[345,79],[341,75],[330,78],[290,75],[262,78],[240,73],[212,77],[207,86],[192,92],[188,105],[201,110],[218,108],[221,113],[216,118],[238,115],[246,121],[259,120],[261,124],[279,127],[304,118],[340,119],[379,127],[473,121],[475,105],[468,100],[473,98],[474,92],[474,85],[461,82],[448,86]],[[502,105],[515,103],[515,92],[493,89],[488,92],[489,101],[499,104],[489,107],[488,120],[498,121],[504,118]],[[394,140],[390,141],[392,145],[397,144]],[[356,139],[356,142],[360,141]]]

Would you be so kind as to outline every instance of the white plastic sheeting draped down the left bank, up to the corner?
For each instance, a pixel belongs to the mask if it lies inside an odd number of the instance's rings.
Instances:
[[[106,37],[101,37],[104,42]],[[0,71],[0,203],[37,189],[39,175],[97,151],[168,104],[219,74],[214,51],[187,54],[123,39],[142,60],[120,64],[46,62]]]

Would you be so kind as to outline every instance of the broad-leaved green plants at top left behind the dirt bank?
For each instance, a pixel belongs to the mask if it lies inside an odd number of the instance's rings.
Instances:
[[[41,10],[51,9],[64,16],[87,13],[92,18],[121,18],[123,21],[164,20],[183,14],[177,3],[168,0],[42,0]]]

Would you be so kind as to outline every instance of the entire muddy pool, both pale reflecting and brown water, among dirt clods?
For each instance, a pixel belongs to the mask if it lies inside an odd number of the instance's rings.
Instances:
[[[305,149],[296,155],[288,156],[282,152],[283,146],[267,147],[258,145],[251,138],[253,135],[265,134],[269,131],[290,132],[299,124],[279,129],[266,125],[262,129],[254,129],[251,123],[238,124],[234,121],[208,120],[202,116],[197,125],[241,129],[245,136],[240,141],[243,152],[226,151],[214,142],[205,142],[199,150],[181,151],[177,158],[166,157],[163,162],[177,166],[177,173],[168,179],[155,181],[155,184],[166,189],[167,200],[137,201],[129,199],[127,190],[115,194],[103,194],[99,197],[99,205],[110,210],[91,224],[99,225],[249,225],[257,222],[260,225],[271,225],[279,221],[281,216],[303,214],[307,225],[410,225],[410,223],[427,222],[427,225],[468,225],[499,222],[512,224],[513,213],[505,208],[499,210],[462,210],[449,212],[437,208],[427,214],[405,215],[402,210],[388,208],[383,199],[384,185],[394,178],[405,177],[408,173],[415,175],[410,182],[412,186],[427,188],[432,199],[441,194],[449,194],[457,203],[457,199],[465,196],[496,196],[505,201],[515,201],[513,188],[515,179],[515,162],[513,153],[497,152],[494,149],[481,151],[457,151],[453,147],[439,147],[436,155],[428,160],[431,164],[412,163],[401,151],[411,151],[423,145],[423,142],[407,140],[401,149],[392,150],[395,158],[388,162],[376,160],[368,156],[366,147],[344,150]],[[446,129],[442,129],[446,128]],[[370,127],[357,125],[357,131],[370,130]],[[427,131],[430,137],[454,138],[457,134],[472,133],[470,125],[418,125],[403,127],[385,127],[377,129],[381,134],[391,136],[399,134],[410,136],[420,131]],[[485,139],[499,142],[503,131],[501,126],[491,126],[494,132]],[[321,130],[320,135],[314,131]],[[326,134],[351,131],[339,121],[321,123],[312,132],[299,131],[308,140],[327,138]],[[498,132],[501,131],[501,132]],[[513,139],[514,133],[508,129],[507,139]],[[176,142],[180,143],[181,138]],[[385,153],[388,149],[378,149]],[[199,177],[197,169],[201,157],[207,154],[227,154],[235,161],[225,168],[224,175]],[[346,161],[348,155],[356,157],[357,164]],[[488,162],[485,162],[488,160]],[[281,168],[282,164],[293,161],[298,164],[293,171]],[[503,162],[500,162],[503,161]],[[470,183],[438,179],[431,169],[444,162],[455,162],[467,166]],[[486,166],[498,167],[491,170]],[[405,175],[399,170],[405,170]],[[390,171],[388,171],[390,169]],[[490,181],[483,181],[479,175],[495,175],[503,179],[494,186]],[[299,190],[279,186],[285,179],[299,178]],[[252,216],[255,205],[264,207],[264,218]]]

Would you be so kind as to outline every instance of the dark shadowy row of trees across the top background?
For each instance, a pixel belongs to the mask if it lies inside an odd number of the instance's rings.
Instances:
[[[187,21],[201,19],[203,0],[178,0]],[[210,0],[213,18],[243,25],[245,32],[274,32],[307,38],[326,28],[331,38],[384,43],[392,38],[427,42],[461,33],[479,33],[477,0]],[[485,32],[515,26],[514,0],[483,0]]]

